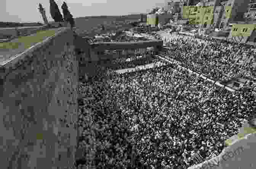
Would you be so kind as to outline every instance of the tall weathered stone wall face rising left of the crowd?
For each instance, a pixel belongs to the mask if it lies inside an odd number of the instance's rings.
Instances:
[[[71,168],[78,119],[73,31],[65,28],[0,70],[1,168]]]

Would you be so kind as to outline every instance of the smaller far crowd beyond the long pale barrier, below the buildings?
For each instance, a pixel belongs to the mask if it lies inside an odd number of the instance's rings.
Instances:
[[[174,46],[173,50],[163,53],[164,56],[176,59],[183,66],[201,72],[213,80],[226,82],[240,76],[256,79],[256,49],[253,46],[179,35],[165,37],[163,40]],[[239,61],[242,58],[248,59],[241,64]]]

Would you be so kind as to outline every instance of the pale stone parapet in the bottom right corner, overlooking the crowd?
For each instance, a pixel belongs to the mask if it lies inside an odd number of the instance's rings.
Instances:
[[[254,169],[256,130],[250,128],[246,122],[238,135],[226,141],[228,147],[222,150],[220,155],[188,169]]]

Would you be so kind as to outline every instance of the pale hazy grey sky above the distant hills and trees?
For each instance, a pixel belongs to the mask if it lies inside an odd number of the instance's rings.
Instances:
[[[55,0],[61,13],[63,1],[76,18],[147,13],[153,7],[164,6],[170,0]],[[0,0],[0,21],[43,22],[37,9],[39,3],[45,8],[48,21],[52,21],[49,0]]]

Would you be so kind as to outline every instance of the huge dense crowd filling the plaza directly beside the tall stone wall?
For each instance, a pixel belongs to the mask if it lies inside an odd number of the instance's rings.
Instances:
[[[99,66],[80,85],[91,98],[80,103],[81,146],[96,168],[186,168],[197,152],[203,158],[220,153],[255,114],[251,92],[226,91],[175,65],[106,71]]]

